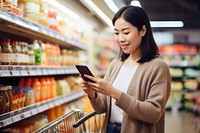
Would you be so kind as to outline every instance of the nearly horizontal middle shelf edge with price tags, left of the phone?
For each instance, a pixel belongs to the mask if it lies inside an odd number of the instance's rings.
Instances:
[[[8,66],[0,65],[0,77],[78,74],[74,66]]]

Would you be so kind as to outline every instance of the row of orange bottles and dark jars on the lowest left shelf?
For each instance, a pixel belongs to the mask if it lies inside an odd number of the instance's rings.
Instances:
[[[70,83],[69,83],[70,82]],[[39,103],[80,89],[80,77],[21,78],[18,85],[0,85],[0,114]]]

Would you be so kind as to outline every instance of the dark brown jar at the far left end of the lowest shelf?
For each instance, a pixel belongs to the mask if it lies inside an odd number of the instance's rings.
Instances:
[[[0,85],[0,105],[0,114],[9,111],[9,96],[7,93],[7,87],[3,85]]]

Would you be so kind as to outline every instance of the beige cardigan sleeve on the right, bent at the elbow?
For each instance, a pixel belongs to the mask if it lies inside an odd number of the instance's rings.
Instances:
[[[144,100],[122,93],[116,105],[131,118],[155,124],[165,110],[171,90],[171,76],[167,64],[162,61],[154,62],[152,66],[148,65],[146,75],[135,81],[138,82],[136,87],[140,87],[135,90],[144,91],[144,94],[147,94]]]

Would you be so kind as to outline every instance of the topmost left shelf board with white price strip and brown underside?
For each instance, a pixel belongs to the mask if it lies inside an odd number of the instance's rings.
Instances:
[[[86,45],[29,20],[0,10],[0,30],[15,35],[57,43],[75,50],[86,50]]]

